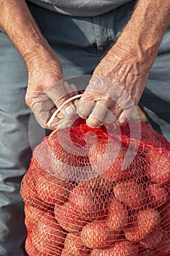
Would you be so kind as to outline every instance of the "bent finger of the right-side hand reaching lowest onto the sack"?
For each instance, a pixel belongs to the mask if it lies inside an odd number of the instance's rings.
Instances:
[[[86,121],[88,126],[99,127],[107,111],[108,111],[108,108],[104,104],[101,104],[101,102],[96,102],[96,105],[94,106],[93,111],[90,113],[90,116]]]

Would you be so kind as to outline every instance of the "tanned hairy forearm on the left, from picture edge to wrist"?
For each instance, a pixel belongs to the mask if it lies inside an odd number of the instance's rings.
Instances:
[[[51,51],[24,0],[0,0],[0,26],[26,62],[40,51]],[[52,53],[53,54],[53,53]]]

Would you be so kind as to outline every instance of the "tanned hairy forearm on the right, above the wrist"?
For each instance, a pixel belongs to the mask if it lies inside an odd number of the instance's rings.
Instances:
[[[170,0],[139,0],[128,24],[117,39],[120,54],[124,52],[128,61],[136,59],[139,64],[145,64],[146,69],[150,69],[169,23]],[[115,51],[115,48],[112,50]]]

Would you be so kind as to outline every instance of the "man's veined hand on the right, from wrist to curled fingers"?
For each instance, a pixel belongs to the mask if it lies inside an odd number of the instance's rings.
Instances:
[[[142,96],[147,77],[148,70],[128,55],[109,52],[93,72],[78,113],[87,118],[90,127],[98,127],[101,122],[124,124]]]

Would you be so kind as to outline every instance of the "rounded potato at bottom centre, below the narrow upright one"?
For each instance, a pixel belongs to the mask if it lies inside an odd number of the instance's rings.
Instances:
[[[81,238],[82,243],[91,249],[100,249],[110,244],[120,236],[115,230],[110,230],[104,221],[90,222],[82,227]]]

